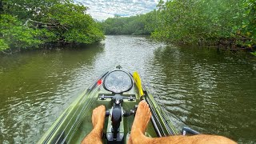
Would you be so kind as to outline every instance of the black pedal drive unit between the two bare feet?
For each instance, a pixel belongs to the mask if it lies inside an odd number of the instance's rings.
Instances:
[[[135,115],[138,105],[135,105],[133,110],[123,110],[123,99],[133,101],[135,98],[132,96],[125,97],[120,94],[115,94],[114,96],[100,96],[101,100],[106,98],[111,98],[113,102],[111,110],[106,110],[106,117],[109,118],[106,130],[107,143],[123,143],[125,135],[123,118]]]

